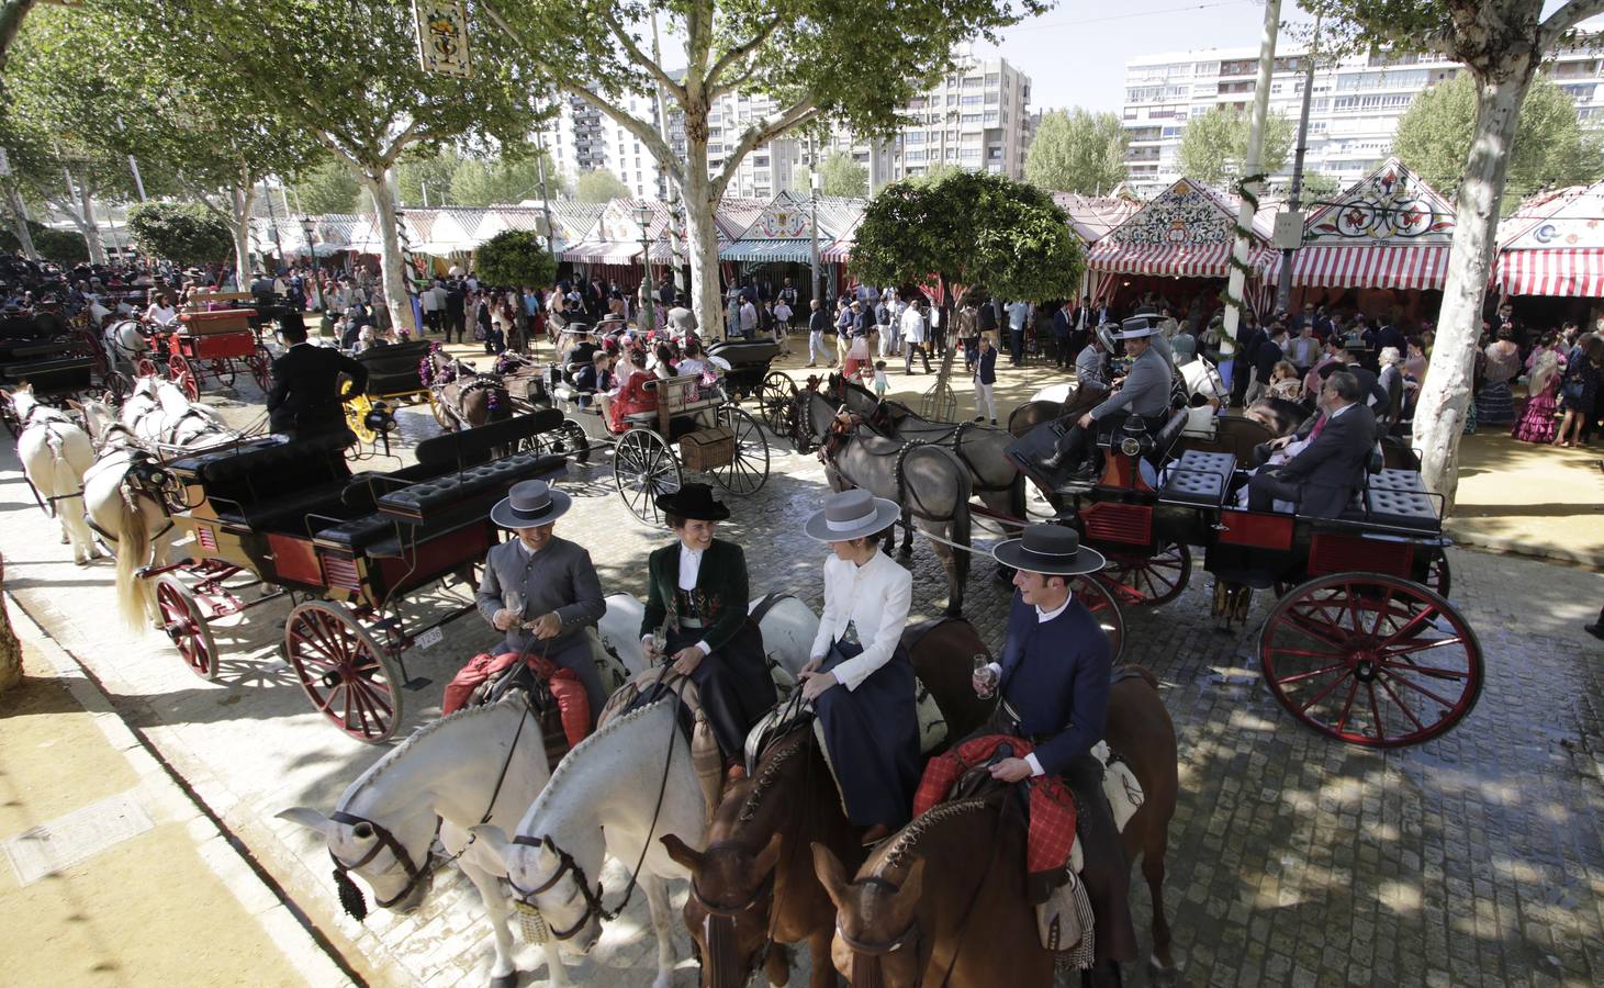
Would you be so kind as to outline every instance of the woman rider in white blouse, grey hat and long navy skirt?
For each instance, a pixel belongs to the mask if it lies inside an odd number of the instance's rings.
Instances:
[[[802,696],[824,727],[847,818],[868,828],[865,844],[908,823],[919,783],[916,685],[901,645],[913,574],[877,541],[900,515],[893,502],[853,489],[826,497],[805,526],[834,555],[824,561],[824,614]]]

